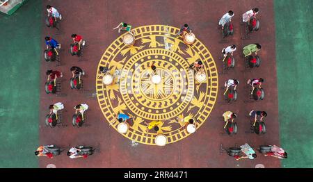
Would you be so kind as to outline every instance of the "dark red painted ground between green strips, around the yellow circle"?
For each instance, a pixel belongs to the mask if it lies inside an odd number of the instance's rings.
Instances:
[[[78,144],[90,145],[100,149],[100,153],[90,156],[88,159],[70,159],[66,151],[54,159],[40,158],[40,167],[46,167],[53,163],[56,167],[255,167],[262,163],[265,167],[280,167],[280,161],[276,158],[259,156],[255,160],[239,160],[220,155],[220,144],[225,147],[232,147],[234,144],[252,143],[257,147],[259,144],[279,144],[278,130],[278,101],[277,83],[275,68],[275,25],[273,19],[272,1],[45,1],[43,13],[46,15],[45,6],[47,3],[55,6],[63,15],[61,31],[63,35],[54,35],[55,29],[45,27],[42,19],[42,51],[44,49],[45,35],[51,35],[61,42],[64,49],[61,52],[61,67],[55,67],[54,63],[46,63],[42,58],[42,92],[40,118],[40,143],[58,144],[62,147],[70,147]],[[252,34],[251,40],[241,40],[240,26],[241,15],[250,8],[258,7],[258,15],[261,21],[261,28],[257,33]],[[220,31],[217,29],[218,20],[228,10],[234,11],[233,24],[235,33],[230,42],[220,42]],[[106,47],[119,36],[112,28],[120,22],[127,22],[133,27],[150,24],[168,24],[180,27],[184,23],[190,24],[193,33],[202,41],[211,54],[214,56],[219,72],[222,71],[222,62],[218,60],[218,53],[223,47],[229,44],[236,44],[237,50],[234,55],[236,67],[226,75],[219,74],[220,90],[218,100],[209,116],[209,120],[193,135],[168,144],[166,147],[148,146],[139,144],[131,147],[131,140],[124,138],[104,122],[104,116],[97,104],[95,93],[95,73],[97,64]],[[88,47],[84,50],[83,58],[86,61],[78,61],[78,58],[71,56],[68,47],[71,43],[70,35],[77,33],[83,35],[87,40]],[[262,58],[261,67],[253,72],[243,73],[243,59],[241,49],[246,44],[256,43],[262,45],[259,56]],[[84,78],[84,88],[90,90],[88,93],[79,93],[70,90],[69,79],[71,76],[70,67],[79,66],[86,70],[87,77]],[[62,83],[62,92],[66,97],[56,97],[45,94],[44,84],[46,81],[45,72],[47,69],[58,69],[64,73],[65,81]],[[245,79],[265,78],[264,90],[266,97],[263,101],[244,103],[248,99],[248,90],[244,88]],[[234,104],[223,104],[222,85],[227,78],[237,78],[241,82],[238,88],[239,98]],[[65,128],[49,129],[45,127],[44,119],[49,104],[62,101],[67,112],[63,112],[63,123]],[[90,109],[87,113],[87,124],[89,127],[74,128],[71,126],[74,106],[80,103],[87,103]],[[267,133],[263,136],[245,133],[250,125],[245,115],[251,109],[266,110]],[[220,135],[223,132],[223,122],[220,120],[225,110],[232,110],[238,113],[236,119],[239,125],[239,133],[235,136]]]

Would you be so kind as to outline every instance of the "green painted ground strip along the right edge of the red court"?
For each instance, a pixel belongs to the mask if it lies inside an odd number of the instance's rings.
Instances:
[[[312,0],[275,0],[282,167],[313,167],[312,8]]]

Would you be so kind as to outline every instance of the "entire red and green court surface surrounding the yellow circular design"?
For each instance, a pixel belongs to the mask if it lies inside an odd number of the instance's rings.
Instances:
[[[48,3],[58,8],[63,15],[60,31],[47,28],[44,24],[47,15],[45,6]],[[310,60],[312,41],[309,41],[312,40],[312,35],[307,33],[308,29],[313,28],[310,24],[312,15],[309,13],[312,6],[310,0],[228,3],[209,0],[119,0],[88,3],[28,1],[13,15],[0,15],[0,35],[5,35],[1,36],[0,41],[0,141],[3,144],[0,149],[0,167],[46,167],[51,163],[56,167],[255,167],[257,164],[263,164],[265,167],[313,167],[310,162],[313,160],[313,114],[310,109],[313,105],[310,97],[313,91]],[[188,10],[182,11],[186,7]],[[242,40],[241,14],[254,7],[260,9],[258,18],[261,28],[257,33],[250,35],[250,40]],[[229,42],[222,43],[217,22],[230,9],[235,14],[232,20],[235,31],[231,38],[227,38]],[[109,126],[102,113],[105,108],[100,108],[101,104],[99,106],[99,98],[96,96],[98,93],[99,97],[96,76],[99,61],[104,60],[104,52],[120,36],[116,30],[112,30],[120,22],[127,22],[133,28],[151,25],[179,28],[187,23],[196,38],[207,48],[211,55],[208,62],[214,61],[217,69],[218,92],[211,113],[203,120],[197,132],[166,147],[157,147],[143,144],[138,138],[135,138],[138,143],[132,144],[131,140]],[[87,40],[88,47],[83,50],[82,60],[69,53],[72,33],[83,35]],[[56,67],[56,63],[45,62],[42,56],[46,35],[62,44],[61,66]],[[138,41],[136,40],[134,46],[143,46],[138,51],[150,49],[147,44],[139,41],[139,35],[141,34],[138,33]],[[157,42],[166,44],[166,40],[157,39]],[[242,47],[255,42],[262,44],[262,51],[258,53],[262,58],[261,66],[252,72],[244,72]],[[236,44],[237,47],[234,53],[236,67],[227,74],[222,74],[220,50],[230,44]],[[156,47],[164,49],[165,46]],[[188,55],[187,47],[183,44],[178,44],[178,48],[184,52],[181,53],[183,58],[192,57]],[[178,49],[175,52],[178,54]],[[131,58],[134,55],[128,52],[121,59],[116,59],[122,60],[126,56]],[[175,65],[175,62],[173,63]],[[85,69],[83,88],[88,92],[70,89],[72,66]],[[170,69],[167,65],[163,67]],[[56,97],[45,93],[47,69],[63,72],[61,90],[65,96]],[[248,102],[249,90],[245,88],[245,82],[254,77],[265,79],[263,88],[266,97],[263,101]],[[228,78],[240,81],[239,98],[232,104],[225,104],[223,99],[223,83]],[[209,85],[200,85],[199,93],[207,88]],[[123,107],[122,103],[118,102],[119,92],[115,90],[113,93],[117,98],[109,98],[111,107],[108,109],[120,110]],[[195,95],[197,99],[200,99],[199,93]],[[44,123],[45,115],[49,112],[47,107],[58,101],[65,104],[62,122],[67,126],[50,129]],[[90,126],[74,128],[71,126],[74,106],[80,103],[87,103],[90,107],[86,113],[86,124]],[[195,101],[188,105],[192,108],[190,112],[197,113],[198,108],[193,104],[197,105]],[[143,110],[145,109],[143,107]],[[250,126],[245,116],[251,109],[266,110],[268,113],[265,118],[265,135],[246,133]],[[224,125],[220,117],[226,110],[238,114],[236,122],[239,132],[234,136],[220,134]],[[171,129],[164,126],[164,132],[174,131],[176,125],[171,126]],[[141,124],[138,124],[138,127],[141,130]],[[288,152],[288,158],[278,160],[259,154],[255,160],[236,161],[225,153],[220,155],[220,144],[233,147],[235,144],[246,142],[251,143],[253,147],[260,144],[281,145]],[[33,155],[33,151],[40,144],[58,144],[65,149],[83,144],[99,150],[86,160],[70,160],[65,152],[54,159],[38,158]],[[10,151],[10,154],[5,151]]]

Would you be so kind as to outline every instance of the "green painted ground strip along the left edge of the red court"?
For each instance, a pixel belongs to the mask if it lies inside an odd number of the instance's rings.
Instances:
[[[0,13],[0,167],[38,167],[41,3]]]

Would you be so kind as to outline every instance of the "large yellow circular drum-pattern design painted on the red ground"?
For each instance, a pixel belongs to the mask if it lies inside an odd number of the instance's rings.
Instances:
[[[97,68],[97,99],[107,122],[118,131],[118,114],[128,119],[126,138],[143,144],[155,144],[160,133],[167,143],[186,138],[184,117],[196,119],[197,130],[207,121],[218,93],[218,72],[208,49],[195,39],[191,45],[177,37],[179,28],[164,25],[134,28],[135,43],[127,46],[123,35],[104,52]],[[201,60],[207,78],[195,79],[189,65]],[[151,66],[157,67],[153,72]],[[111,85],[104,85],[99,67],[108,67],[113,76]],[[152,83],[159,75],[161,81]],[[148,129],[159,123],[159,131]]]

